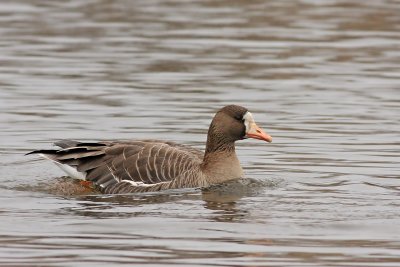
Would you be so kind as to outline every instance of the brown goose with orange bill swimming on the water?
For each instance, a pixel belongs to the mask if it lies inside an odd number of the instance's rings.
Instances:
[[[244,107],[220,109],[208,129],[205,151],[161,140],[78,142],[61,140],[59,149],[34,150],[70,177],[93,183],[104,194],[208,187],[243,177],[235,142],[272,142]],[[28,155],[27,154],[27,155]]]

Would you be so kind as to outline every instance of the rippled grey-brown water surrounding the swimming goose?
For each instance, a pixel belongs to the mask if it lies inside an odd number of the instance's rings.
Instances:
[[[6,1],[0,265],[399,266],[397,1]],[[58,139],[204,148],[250,109],[247,185],[64,194]],[[69,181],[72,183],[71,181]],[[54,189],[54,188],[53,188]]]

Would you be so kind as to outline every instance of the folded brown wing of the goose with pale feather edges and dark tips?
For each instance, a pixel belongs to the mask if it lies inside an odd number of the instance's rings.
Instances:
[[[200,150],[157,140],[99,143],[64,140],[56,145],[61,149],[31,153],[73,167],[85,180],[102,188],[122,181],[146,185],[173,181],[199,164],[203,157]]]

